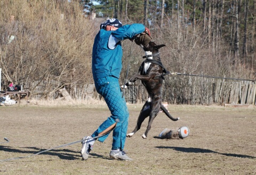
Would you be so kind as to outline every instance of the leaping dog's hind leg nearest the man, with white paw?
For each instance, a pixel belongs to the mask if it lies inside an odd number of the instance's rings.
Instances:
[[[146,102],[143,105],[142,110],[140,111],[140,115],[134,130],[131,133],[127,134],[126,137],[132,137],[135,134],[135,132],[137,132],[140,129],[142,122],[149,116],[149,113],[150,113],[150,103]]]

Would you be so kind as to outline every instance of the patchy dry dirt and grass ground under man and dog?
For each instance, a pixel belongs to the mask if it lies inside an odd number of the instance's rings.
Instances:
[[[129,105],[129,130],[142,105]],[[177,122],[159,113],[148,139],[142,124],[125,151],[134,161],[109,158],[111,137],[82,161],[81,143],[29,158],[0,162],[0,174],[256,174],[256,108],[169,105]],[[106,105],[0,106],[0,160],[23,157],[91,135],[109,116]],[[187,126],[189,137],[159,139],[164,128]],[[111,135],[110,135],[111,136]],[[4,137],[10,140],[4,142]]]

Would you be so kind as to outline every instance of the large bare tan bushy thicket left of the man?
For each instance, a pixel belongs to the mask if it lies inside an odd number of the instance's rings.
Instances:
[[[12,34],[13,40],[0,41],[0,67],[5,82],[15,81],[24,85],[31,96],[40,93],[43,98],[51,97],[65,86],[92,82],[90,62],[94,30],[78,3],[61,4],[61,8],[42,1],[9,3],[5,1],[4,5],[9,8],[14,5],[14,9],[19,6],[20,16],[25,17],[15,20],[17,30]],[[51,10],[48,13],[38,11],[44,7]],[[5,13],[7,9],[1,7]],[[6,22],[0,19],[0,36],[4,34]]]

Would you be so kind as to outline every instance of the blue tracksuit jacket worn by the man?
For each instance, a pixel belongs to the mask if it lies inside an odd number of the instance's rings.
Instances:
[[[115,31],[101,29],[94,39],[92,51],[92,73],[93,79],[115,76],[119,78],[122,70],[122,46],[119,41],[114,49],[108,47],[108,39],[113,35],[119,40],[131,39],[137,34],[145,31],[142,24],[125,25]]]

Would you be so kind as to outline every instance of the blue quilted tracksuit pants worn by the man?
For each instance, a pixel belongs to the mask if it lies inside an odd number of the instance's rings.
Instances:
[[[92,137],[98,136],[100,132],[110,127],[116,121],[116,128],[113,130],[113,144],[112,149],[124,149],[126,132],[128,127],[129,112],[125,99],[122,98],[122,92],[119,86],[118,78],[113,76],[94,79],[94,84],[97,92],[103,96],[111,116],[104,121],[99,128],[92,134]],[[103,142],[109,134],[98,138]]]

